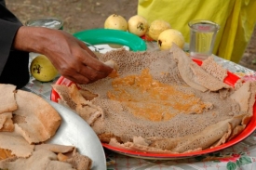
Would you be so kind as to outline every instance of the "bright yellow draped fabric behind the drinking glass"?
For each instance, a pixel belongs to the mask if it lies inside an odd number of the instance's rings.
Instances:
[[[166,20],[189,43],[191,20],[211,20],[221,28],[213,54],[238,62],[256,22],[255,0],[139,0],[138,14],[151,23]]]

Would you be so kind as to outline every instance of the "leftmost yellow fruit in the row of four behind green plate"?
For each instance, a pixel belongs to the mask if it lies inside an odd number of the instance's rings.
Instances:
[[[104,22],[105,29],[114,29],[114,30],[128,30],[128,22],[122,16],[112,14]]]

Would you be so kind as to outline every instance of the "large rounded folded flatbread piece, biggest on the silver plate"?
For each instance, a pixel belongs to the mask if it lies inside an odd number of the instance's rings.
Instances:
[[[29,143],[39,143],[54,136],[61,124],[61,117],[45,99],[33,93],[18,90],[16,100],[19,108],[13,113],[25,120],[15,124],[15,128],[22,137]]]

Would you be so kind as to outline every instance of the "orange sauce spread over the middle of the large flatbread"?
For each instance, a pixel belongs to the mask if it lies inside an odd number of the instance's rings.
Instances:
[[[206,104],[191,92],[153,79],[148,69],[141,75],[115,78],[108,98],[122,102],[135,116],[150,121],[168,121],[178,113],[201,113]]]

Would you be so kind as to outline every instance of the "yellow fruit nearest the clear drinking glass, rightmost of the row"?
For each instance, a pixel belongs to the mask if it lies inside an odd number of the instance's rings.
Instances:
[[[159,34],[157,44],[161,50],[169,49],[172,46],[172,43],[183,48],[185,40],[181,32],[174,29],[168,29]]]

